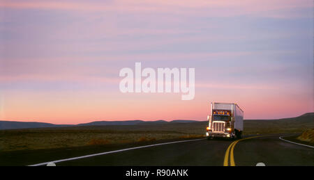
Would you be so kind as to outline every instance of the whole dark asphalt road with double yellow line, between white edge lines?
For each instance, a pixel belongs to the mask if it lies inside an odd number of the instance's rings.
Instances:
[[[232,140],[195,140],[158,145],[89,158],[63,161],[59,165],[314,165],[314,149],[280,140],[278,135]],[[285,135],[287,136],[287,135]],[[248,138],[248,139],[246,139]],[[233,143],[234,144],[234,143]],[[230,148],[229,148],[230,147]],[[227,151],[228,150],[228,151]],[[226,154],[228,155],[226,158]],[[231,160],[231,158],[233,158]],[[57,159],[56,159],[57,160]],[[227,161],[227,164],[225,164]]]

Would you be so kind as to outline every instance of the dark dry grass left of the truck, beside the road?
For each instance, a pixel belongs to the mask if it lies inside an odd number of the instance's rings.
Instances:
[[[0,152],[154,142],[204,134],[204,122],[141,126],[76,126],[0,131]]]

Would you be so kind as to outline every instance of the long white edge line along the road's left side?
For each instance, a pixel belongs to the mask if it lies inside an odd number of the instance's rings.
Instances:
[[[195,140],[204,140],[206,138],[202,138],[202,139],[195,139]],[[112,152],[102,152],[102,153],[98,153],[98,154],[90,154],[90,155],[86,155],[86,156],[78,156],[78,157],[74,157],[74,158],[65,158],[65,159],[60,159],[60,160],[56,160],[56,161],[49,161],[49,162],[45,162],[45,163],[38,163],[35,165],[29,165],[29,166],[39,166],[39,165],[46,165],[47,163],[60,163],[63,161],[72,161],[75,159],[79,159],[79,158],[89,158],[92,156],[100,156],[100,155],[104,155],[104,154],[111,154],[111,153],[115,153],[115,152],[125,152],[128,150],[132,150],[132,149],[140,149],[140,148],[145,148],[145,147],[153,147],[153,146],[159,146],[159,145],[169,145],[169,144],[174,144],[174,143],[179,143],[179,142],[188,142],[188,141],[195,141],[195,140],[180,140],[180,141],[174,141],[174,142],[164,142],[164,143],[158,143],[155,145],[146,145],[146,146],[140,146],[140,147],[130,147],[127,149],[119,149],[116,151],[112,151]]]

